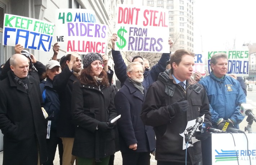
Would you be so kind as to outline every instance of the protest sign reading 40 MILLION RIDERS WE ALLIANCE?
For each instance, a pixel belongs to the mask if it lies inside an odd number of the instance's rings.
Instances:
[[[93,10],[57,9],[56,42],[67,53],[105,53],[108,27],[97,23]]]

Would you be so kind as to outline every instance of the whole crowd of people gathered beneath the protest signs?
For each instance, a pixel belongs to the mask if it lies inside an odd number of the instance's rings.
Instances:
[[[226,54],[213,55],[210,75],[201,78],[200,72],[192,76],[193,52],[163,53],[154,66],[135,56],[125,65],[115,51],[117,39],[113,34],[119,90],[107,55],[92,52],[81,59],[72,52],[58,62],[55,43],[44,66],[15,46],[0,72],[3,165],[53,165],[57,146],[61,165],[113,165],[116,151],[123,165],[149,165],[150,154],[158,165],[184,165],[186,158],[188,165],[202,165],[206,138],[198,138],[186,154],[180,134],[187,122],[204,116],[213,128],[226,121],[239,128],[246,90],[238,77],[226,75]],[[169,38],[170,50],[172,45]]]

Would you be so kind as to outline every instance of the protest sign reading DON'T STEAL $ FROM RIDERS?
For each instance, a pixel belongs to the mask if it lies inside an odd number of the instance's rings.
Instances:
[[[117,6],[115,50],[169,53],[168,10],[150,6]]]

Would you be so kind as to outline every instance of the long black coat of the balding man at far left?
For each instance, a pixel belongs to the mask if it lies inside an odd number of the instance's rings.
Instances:
[[[47,161],[47,122],[41,110],[39,83],[29,77],[28,91],[12,77],[0,82],[0,129],[4,134],[3,165],[36,165]],[[38,145],[38,146],[37,146]]]

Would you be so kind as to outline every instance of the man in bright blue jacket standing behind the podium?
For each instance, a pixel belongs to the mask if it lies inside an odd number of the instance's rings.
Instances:
[[[225,53],[213,55],[210,65],[212,70],[210,75],[199,81],[199,84],[202,84],[207,91],[212,125],[222,129],[221,123],[229,121],[238,129],[238,124],[244,119],[240,113],[240,105],[246,103],[246,95],[240,83],[226,75],[228,56]]]

